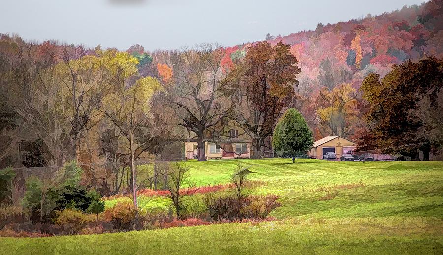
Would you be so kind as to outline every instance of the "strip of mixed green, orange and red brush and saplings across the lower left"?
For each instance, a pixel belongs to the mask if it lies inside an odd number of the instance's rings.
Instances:
[[[186,180],[187,168],[178,165],[177,169],[173,172],[179,177],[176,180]],[[100,234],[268,220],[272,210],[280,206],[278,197],[251,194],[260,183],[249,182],[247,175],[252,172],[241,164],[238,170],[229,185],[196,188],[194,185],[182,187],[180,182],[176,183],[175,189],[155,191],[157,195],[163,194],[171,199],[167,211],[135,210],[132,201],[125,199],[105,208],[98,192],[88,190],[72,179],[46,190],[39,180],[30,179],[22,206],[0,206],[0,236]],[[139,195],[146,196],[148,191]],[[38,230],[40,234],[30,234]]]

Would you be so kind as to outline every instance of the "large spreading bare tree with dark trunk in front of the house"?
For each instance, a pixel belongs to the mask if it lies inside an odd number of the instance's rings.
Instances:
[[[206,161],[204,144],[214,138],[217,124],[232,114],[226,100],[229,90],[221,82],[223,56],[224,49],[211,44],[171,56],[173,85],[166,98],[181,118],[179,125],[188,131],[185,141],[197,142],[199,161]]]

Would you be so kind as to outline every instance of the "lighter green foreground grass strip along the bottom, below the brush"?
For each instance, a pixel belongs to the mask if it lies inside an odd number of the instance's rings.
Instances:
[[[3,254],[438,254],[437,218],[292,219],[138,232],[0,238]]]

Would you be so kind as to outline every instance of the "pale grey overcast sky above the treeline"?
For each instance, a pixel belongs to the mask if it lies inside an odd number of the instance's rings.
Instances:
[[[126,50],[223,46],[378,15],[425,0],[0,0],[0,33]]]

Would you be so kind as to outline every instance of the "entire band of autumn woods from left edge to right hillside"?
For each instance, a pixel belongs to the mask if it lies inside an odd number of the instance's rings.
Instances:
[[[177,51],[2,34],[0,165],[126,162],[131,140],[135,158],[180,159],[180,141],[195,141],[204,159],[223,118],[236,120],[258,152],[287,108],[302,113],[314,140],[340,135],[362,150],[422,143],[387,152],[429,159],[442,137],[433,114],[443,107],[441,5]]]

